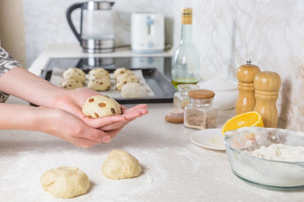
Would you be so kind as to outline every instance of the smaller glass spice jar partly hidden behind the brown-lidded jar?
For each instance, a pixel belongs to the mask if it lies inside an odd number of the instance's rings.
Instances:
[[[177,85],[178,92],[174,93],[173,103],[175,109],[184,109],[190,102],[188,92],[191,90],[199,89],[200,87],[196,84],[179,84]]]

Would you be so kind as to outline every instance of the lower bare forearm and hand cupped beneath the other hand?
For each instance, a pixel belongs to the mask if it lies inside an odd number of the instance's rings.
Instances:
[[[0,103],[0,111],[0,129],[40,131],[84,148],[109,142],[119,131],[90,127],[62,109]]]

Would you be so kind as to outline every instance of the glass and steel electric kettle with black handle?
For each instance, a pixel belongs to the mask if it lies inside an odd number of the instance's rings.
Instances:
[[[114,2],[108,1],[87,1],[73,4],[68,8],[68,24],[84,52],[114,51],[114,27],[111,10],[113,4]],[[71,20],[71,14],[78,8],[81,9],[79,33]]]

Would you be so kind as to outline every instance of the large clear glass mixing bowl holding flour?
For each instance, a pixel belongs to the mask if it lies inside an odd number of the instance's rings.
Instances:
[[[265,149],[272,144],[274,144],[272,146],[277,144],[291,146],[292,148],[289,149],[304,146],[303,132],[278,128],[243,127],[227,131],[224,144],[232,172],[243,181],[270,189],[304,188],[303,153],[268,151],[267,155],[276,156],[276,160],[266,159],[262,155],[255,157],[248,154],[248,152],[257,152],[258,149]],[[281,160],[280,158],[284,156],[286,159]]]

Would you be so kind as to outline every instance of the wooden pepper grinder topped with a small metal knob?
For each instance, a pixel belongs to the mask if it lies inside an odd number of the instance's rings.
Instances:
[[[258,66],[251,64],[251,60],[246,60],[247,64],[238,67],[236,78],[238,79],[238,98],[236,100],[236,115],[253,111],[255,106],[254,97],[254,77],[261,70]]]

